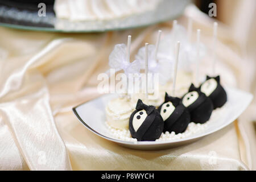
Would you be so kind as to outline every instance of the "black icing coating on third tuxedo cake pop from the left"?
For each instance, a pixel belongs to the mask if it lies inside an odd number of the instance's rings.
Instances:
[[[212,101],[210,98],[205,96],[204,93],[200,92],[200,89],[196,88],[193,84],[191,84],[189,88],[189,92],[192,91],[196,91],[199,94],[199,97],[195,102],[187,107],[190,113],[191,122],[205,123],[210,119],[210,115],[213,111]],[[183,98],[181,99],[180,103],[182,103]]]

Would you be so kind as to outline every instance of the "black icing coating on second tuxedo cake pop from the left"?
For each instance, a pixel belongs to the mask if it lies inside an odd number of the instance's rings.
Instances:
[[[167,93],[164,99],[164,103],[166,102],[172,102],[172,105],[175,106],[175,110],[170,117],[164,121],[163,131],[169,131],[170,133],[174,131],[175,134],[183,133],[187,129],[190,122],[190,114],[188,109],[180,103],[180,98],[168,96]],[[159,112],[163,104],[159,106]]]

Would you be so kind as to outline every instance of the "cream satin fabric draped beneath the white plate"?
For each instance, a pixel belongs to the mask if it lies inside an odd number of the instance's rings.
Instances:
[[[209,41],[210,28],[195,26],[206,32],[204,41]],[[171,22],[102,34],[0,27],[0,169],[248,169],[241,160],[243,140],[234,123],[187,146],[137,151],[96,136],[72,113],[73,106],[98,96],[97,75],[109,68],[114,44],[126,42],[131,34],[134,56],[144,42],[155,41],[158,28],[167,32]],[[228,75],[224,82],[234,86],[239,68],[222,58],[220,72]]]

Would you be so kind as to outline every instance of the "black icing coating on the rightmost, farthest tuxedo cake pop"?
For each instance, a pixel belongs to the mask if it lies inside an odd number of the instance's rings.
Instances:
[[[222,107],[226,103],[227,95],[226,95],[225,89],[220,84],[220,76],[216,76],[216,77],[207,76],[207,80],[209,80],[210,78],[214,78],[214,80],[217,81],[216,89],[209,95],[209,98],[213,103],[213,109],[216,109],[218,107]],[[200,89],[201,89],[201,85],[200,85]]]

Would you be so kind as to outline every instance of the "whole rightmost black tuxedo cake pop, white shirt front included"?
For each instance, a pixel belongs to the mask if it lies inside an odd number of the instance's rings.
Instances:
[[[226,103],[226,91],[220,84],[220,76],[207,76],[207,80],[200,86],[200,91],[210,98],[214,109],[222,107]]]

